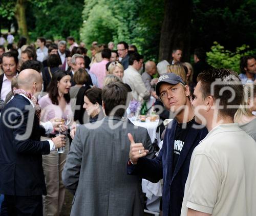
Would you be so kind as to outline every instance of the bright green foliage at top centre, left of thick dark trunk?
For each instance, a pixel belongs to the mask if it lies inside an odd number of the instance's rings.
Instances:
[[[81,39],[108,44],[124,40],[148,59],[157,59],[163,0],[85,0]]]

